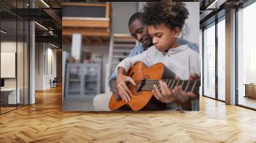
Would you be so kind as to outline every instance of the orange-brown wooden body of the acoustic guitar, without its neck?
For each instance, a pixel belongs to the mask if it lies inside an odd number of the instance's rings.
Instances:
[[[115,96],[112,95],[109,101],[109,109],[116,110],[122,109],[123,107],[129,107],[131,110],[163,110],[166,107],[166,103],[159,102],[154,98],[152,91],[138,91],[138,84],[143,79],[165,79],[173,78],[174,74],[166,73],[168,70],[164,67],[164,64],[157,63],[150,67],[145,66],[143,62],[137,62],[129,70],[128,76],[132,77],[136,86],[133,86],[131,83],[127,84],[129,89],[132,92],[131,101],[124,102],[123,100],[116,101]],[[165,73],[165,74],[164,74]],[[168,75],[168,77],[166,77]]]

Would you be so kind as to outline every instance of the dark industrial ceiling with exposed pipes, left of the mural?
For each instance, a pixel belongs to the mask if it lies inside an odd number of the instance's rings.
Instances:
[[[24,29],[24,21],[31,20],[41,25],[35,24],[36,42],[46,41],[61,47],[61,0],[30,0],[30,3],[28,0],[1,0],[0,17],[1,29],[7,32],[1,36],[2,39],[22,37],[24,32],[28,32],[27,27]]]

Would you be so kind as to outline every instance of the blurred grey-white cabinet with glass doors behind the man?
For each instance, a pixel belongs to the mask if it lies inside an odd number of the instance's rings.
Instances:
[[[101,63],[68,63],[65,98],[93,98],[100,93]]]

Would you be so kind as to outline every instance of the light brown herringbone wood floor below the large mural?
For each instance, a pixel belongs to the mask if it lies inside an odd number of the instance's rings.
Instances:
[[[0,142],[256,142],[256,112],[200,98],[200,112],[62,112],[61,88],[0,116]]]

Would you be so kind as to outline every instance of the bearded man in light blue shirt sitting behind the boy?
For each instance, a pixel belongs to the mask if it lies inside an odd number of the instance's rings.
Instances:
[[[136,40],[140,41],[140,44],[134,47],[134,49],[132,49],[132,51],[128,56],[128,57],[133,57],[147,50],[149,47],[153,45],[153,43],[152,43],[152,38],[150,38],[148,34],[148,27],[142,22],[141,12],[134,13],[131,16],[131,18],[129,19],[128,26],[129,26],[129,31],[131,33],[131,36],[134,37]],[[195,44],[190,43],[189,41],[186,41],[186,40],[182,40],[180,38],[178,38],[178,41],[180,45],[186,44],[188,45],[189,48],[198,52],[198,47]],[[120,94],[118,93],[118,89],[116,88],[116,77],[117,77],[117,73],[113,72],[113,74],[109,79],[109,86],[111,91],[115,94],[116,100],[122,100],[120,97]],[[124,79],[124,81],[131,80],[129,79],[131,77],[125,77],[125,78],[127,79]],[[112,92],[98,94],[97,96],[95,96],[95,98],[93,98],[93,106],[96,111],[110,111],[108,105],[109,105],[109,100],[111,98]]]

